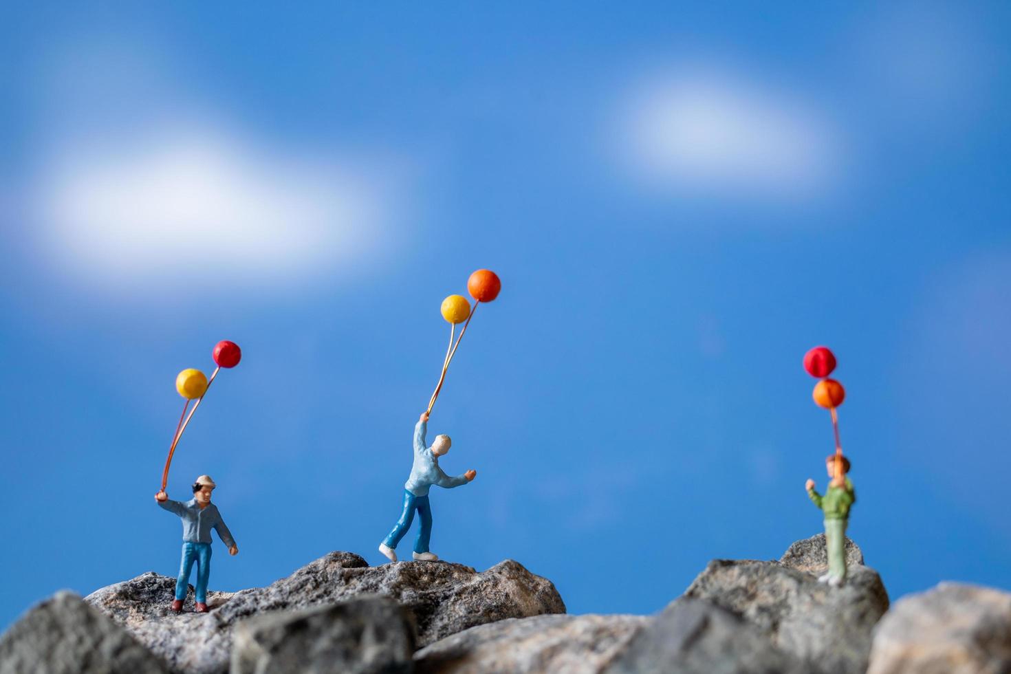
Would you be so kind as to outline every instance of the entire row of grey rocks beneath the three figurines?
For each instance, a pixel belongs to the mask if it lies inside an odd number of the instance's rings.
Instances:
[[[564,614],[554,585],[513,561],[477,573],[331,553],[267,587],[210,592],[206,614],[192,588],[172,613],[175,579],[147,573],[30,610],[0,638],[0,674],[1011,674],[1011,593],[942,583],[886,612],[881,578],[846,550],[841,587],[817,581],[819,535],[778,562],[714,560],[652,616]]]

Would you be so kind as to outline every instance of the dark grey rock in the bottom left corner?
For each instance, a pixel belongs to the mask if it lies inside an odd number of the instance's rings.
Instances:
[[[0,674],[165,674],[168,667],[73,592],[57,592],[0,638]]]

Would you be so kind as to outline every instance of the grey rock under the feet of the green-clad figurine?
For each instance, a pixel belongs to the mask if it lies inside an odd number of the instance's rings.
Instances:
[[[871,631],[888,610],[878,573],[849,568],[845,584],[830,587],[777,562],[714,560],[685,597],[737,613],[802,660],[809,671],[862,674]]]

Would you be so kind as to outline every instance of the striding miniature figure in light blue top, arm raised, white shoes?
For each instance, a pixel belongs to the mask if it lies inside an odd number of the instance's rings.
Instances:
[[[415,519],[415,510],[418,510],[422,517],[422,527],[415,539],[413,559],[434,562],[439,557],[429,551],[429,540],[432,537],[432,507],[429,505],[429,488],[436,484],[440,487],[452,489],[462,484],[467,484],[474,479],[477,472],[469,470],[463,475],[450,477],[439,467],[439,457],[445,456],[449,452],[451,445],[449,436],[437,436],[432,447],[425,447],[425,434],[428,427],[429,413],[422,412],[418,425],[415,426],[415,464],[410,469],[410,477],[404,483],[403,491],[403,511],[400,518],[393,526],[389,536],[379,544],[379,552],[385,555],[390,562],[396,561],[396,544],[410,528],[410,522]]]

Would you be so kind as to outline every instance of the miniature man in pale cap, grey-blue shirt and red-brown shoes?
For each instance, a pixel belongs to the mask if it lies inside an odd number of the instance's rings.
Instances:
[[[183,520],[183,560],[179,567],[179,579],[176,581],[176,598],[172,602],[172,610],[177,613],[183,608],[186,598],[186,588],[189,585],[190,571],[196,562],[196,612],[207,612],[207,581],[210,579],[210,529],[217,531],[221,542],[228,547],[229,555],[238,555],[232,533],[224,525],[217,506],[210,502],[210,492],[214,490],[214,481],[208,475],[201,475],[193,483],[193,499],[186,501],[169,500],[169,495],[162,489],[155,494],[158,504],[170,512],[175,512]]]

